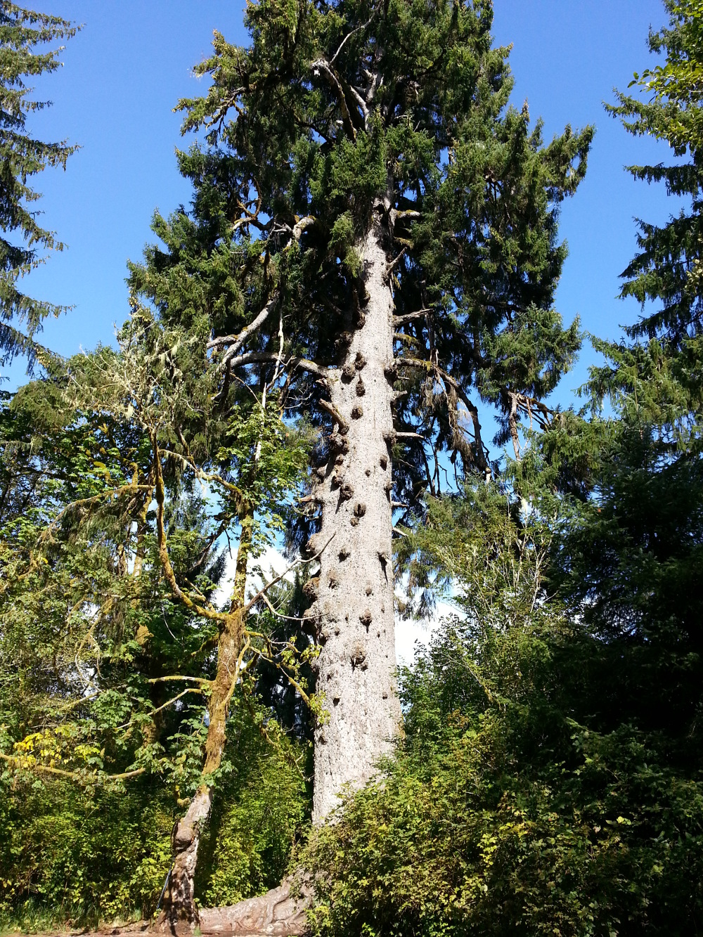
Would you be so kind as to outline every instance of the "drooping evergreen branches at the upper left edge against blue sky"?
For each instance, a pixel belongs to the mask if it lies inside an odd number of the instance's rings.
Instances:
[[[28,132],[27,117],[48,102],[33,100],[25,83],[58,68],[63,47],[46,51],[57,39],[72,37],[67,20],[36,13],[14,3],[0,7],[0,361],[37,353],[32,336],[47,315],[62,307],[32,299],[19,281],[43,260],[42,250],[62,250],[52,231],[42,228],[32,205],[39,193],[29,185],[47,167],[66,168],[76,149],[66,141],[46,143]],[[23,331],[22,331],[23,330]]]

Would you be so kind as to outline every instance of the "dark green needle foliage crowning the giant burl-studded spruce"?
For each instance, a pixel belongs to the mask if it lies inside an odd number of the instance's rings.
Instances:
[[[552,307],[565,257],[557,219],[592,138],[591,128],[567,127],[544,146],[527,106],[508,106],[508,51],[491,47],[491,22],[484,2],[263,0],[247,9],[251,47],[216,36],[214,57],[197,69],[212,75],[208,96],[180,105],[184,129],[209,133],[205,151],[180,156],[196,216],[212,226],[217,211],[268,272],[265,294],[237,311],[268,317],[273,297],[288,354],[305,351],[318,367],[343,359],[367,302],[361,244],[381,213],[395,366],[409,392],[395,404],[398,428],[439,434],[438,448],[481,472],[471,389],[497,405],[509,439],[521,414],[539,413],[578,345]],[[213,328],[225,333],[219,315]],[[265,338],[266,320],[254,321]],[[274,344],[257,353],[273,359],[277,329],[268,331]],[[241,349],[253,334],[212,344]],[[231,354],[227,365],[250,360]]]

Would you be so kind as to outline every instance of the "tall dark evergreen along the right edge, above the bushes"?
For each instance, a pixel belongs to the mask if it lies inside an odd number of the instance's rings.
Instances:
[[[604,726],[630,721],[663,733],[672,758],[695,771],[703,705],[703,133],[696,85],[703,7],[682,0],[666,9],[669,26],[650,36],[651,51],[666,52],[666,62],[633,82],[649,99],[620,95],[609,110],[630,132],[651,134],[687,157],[630,171],[665,182],[690,203],[662,227],[639,222],[639,252],[622,274],[621,293],[636,296],[643,315],[621,342],[594,343],[606,363],[591,369],[591,420],[555,424],[540,448],[543,480],[570,505],[552,587],[608,648],[608,688],[594,684],[592,711]]]

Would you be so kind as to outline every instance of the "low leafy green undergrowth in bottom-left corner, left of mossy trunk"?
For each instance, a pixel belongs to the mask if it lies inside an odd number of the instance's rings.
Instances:
[[[0,811],[0,927],[97,927],[156,906],[171,864],[173,810],[152,785],[90,792],[21,780]]]

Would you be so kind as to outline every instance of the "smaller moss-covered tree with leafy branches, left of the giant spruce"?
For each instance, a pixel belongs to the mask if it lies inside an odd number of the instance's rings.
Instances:
[[[246,595],[249,561],[281,528],[307,449],[265,388],[246,388],[224,415],[200,372],[196,394],[188,336],[156,313],[135,306],[119,341],[0,411],[0,760],[84,785],[165,777],[182,813],[166,909],[190,930],[202,831],[232,770],[235,691],[240,716],[272,740],[257,663],[309,703],[296,679],[306,647],[274,633],[270,600],[257,615]],[[238,544],[218,602],[224,538]],[[244,751],[230,750],[244,776]]]

